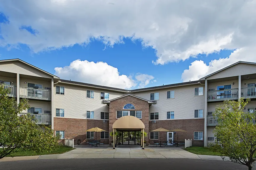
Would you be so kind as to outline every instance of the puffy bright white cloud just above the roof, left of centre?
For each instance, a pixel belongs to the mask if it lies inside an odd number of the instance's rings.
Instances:
[[[116,88],[130,89],[140,83],[140,87],[148,85],[154,77],[147,74],[132,76],[120,75],[118,69],[105,62],[89,62],[75,60],[69,66],[55,67],[55,75],[66,80],[92,83]]]

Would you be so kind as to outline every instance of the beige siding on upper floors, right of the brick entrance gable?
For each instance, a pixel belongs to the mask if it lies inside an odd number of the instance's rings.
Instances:
[[[159,92],[159,100],[149,108],[149,113],[159,113],[159,120],[167,120],[167,112],[169,111],[175,112],[175,119],[194,119],[194,110],[202,109],[204,111],[204,95],[194,96],[194,88],[196,87],[204,87],[204,85],[188,85],[132,94],[150,100],[150,93]],[[167,91],[170,90],[175,90],[174,99],[167,99]]]

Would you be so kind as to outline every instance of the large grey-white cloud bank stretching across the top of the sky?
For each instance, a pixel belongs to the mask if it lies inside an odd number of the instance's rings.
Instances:
[[[0,24],[0,46],[27,44],[39,52],[96,38],[112,47],[130,37],[156,50],[154,64],[166,64],[220,49],[254,48],[255,8],[255,0],[0,0],[9,19]],[[19,29],[24,25],[37,33]]]

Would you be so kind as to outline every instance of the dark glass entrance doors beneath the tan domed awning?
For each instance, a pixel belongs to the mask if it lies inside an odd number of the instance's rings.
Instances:
[[[140,131],[118,131],[120,140],[118,145],[140,145]]]

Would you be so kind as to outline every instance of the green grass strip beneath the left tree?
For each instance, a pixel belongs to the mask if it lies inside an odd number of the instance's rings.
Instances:
[[[60,148],[57,148],[51,152],[44,151],[42,153],[34,153],[32,151],[18,151],[13,153],[11,156],[35,156],[35,155],[49,155],[49,154],[63,154],[65,152],[71,151],[74,148],[68,147],[68,146],[60,146]],[[10,155],[7,157],[11,157]]]

